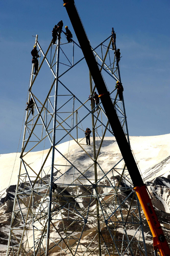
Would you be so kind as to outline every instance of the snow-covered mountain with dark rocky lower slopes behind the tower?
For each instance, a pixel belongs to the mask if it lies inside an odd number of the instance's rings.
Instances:
[[[153,204],[158,214],[158,218],[163,225],[170,229],[170,134],[159,136],[131,136],[131,148],[139,165],[141,175],[147,184]],[[85,144],[82,140],[81,143]],[[68,147],[69,145],[69,147]],[[89,165],[89,158],[77,146],[75,141],[69,141],[57,146],[58,149],[67,152],[72,159],[72,163],[77,167]],[[69,150],[68,150],[69,148]],[[91,153],[92,146],[86,146],[87,153]],[[46,157],[48,150],[43,152],[30,152],[27,162],[38,169],[43,157]],[[20,165],[20,153],[10,153],[0,155],[0,255],[5,255],[11,212],[13,210],[13,199],[17,184],[17,175]],[[57,156],[57,163],[62,162],[61,156]],[[121,159],[118,145],[112,137],[106,137],[100,150],[100,166],[103,169],[110,169]],[[44,168],[49,167],[51,159],[46,162]],[[89,177],[93,173],[89,171]],[[100,174],[98,174],[100,175]],[[66,182],[65,177],[64,182]],[[63,180],[62,180],[63,182]],[[69,182],[69,179],[67,180]],[[148,232],[148,227],[145,227]],[[147,242],[152,244],[152,237],[147,238]]]

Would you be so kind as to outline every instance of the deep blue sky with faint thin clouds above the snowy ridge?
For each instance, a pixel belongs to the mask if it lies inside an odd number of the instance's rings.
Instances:
[[[110,35],[111,27],[115,29],[129,134],[170,133],[169,0],[75,3],[93,48]],[[1,1],[0,153],[17,152],[25,120],[32,35],[38,34],[46,50],[51,30],[61,19],[77,41],[62,0]]]

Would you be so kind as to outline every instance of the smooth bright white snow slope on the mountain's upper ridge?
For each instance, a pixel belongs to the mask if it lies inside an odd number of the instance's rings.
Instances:
[[[81,139],[80,139],[81,140]],[[130,136],[131,148],[144,178],[144,181],[153,181],[155,178],[170,174],[170,134],[158,136]],[[85,139],[81,141],[83,148],[90,153],[92,146],[85,145]],[[69,145],[69,147],[68,147]],[[71,140],[59,144],[56,147],[63,154],[68,154],[75,166],[85,166],[88,164],[89,158],[85,157],[84,152],[79,145]],[[42,161],[47,156],[48,149],[39,152],[30,152],[26,156],[26,161],[31,164],[34,169],[39,169]],[[9,185],[17,184],[18,171],[20,166],[20,153],[9,153],[0,155],[0,191],[3,191]],[[166,159],[167,158],[167,159]],[[102,144],[101,153],[99,155],[101,166],[108,169],[113,163],[121,159],[119,147],[114,137],[106,137]],[[55,155],[57,164],[62,164],[63,158],[59,153]],[[15,163],[15,165],[14,165]],[[160,163],[160,165],[159,165]],[[51,156],[48,157],[45,168],[51,165]],[[157,166],[155,166],[157,165]],[[152,170],[150,170],[152,168]]]

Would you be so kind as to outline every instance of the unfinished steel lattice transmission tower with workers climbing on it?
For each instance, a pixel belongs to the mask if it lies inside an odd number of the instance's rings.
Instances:
[[[124,100],[115,89],[121,77],[112,32],[93,54],[129,142]],[[62,37],[44,53],[36,36],[39,68],[34,76],[32,65],[28,100],[34,104],[26,112],[6,255],[147,255],[139,202],[121,153],[109,158],[104,149],[110,140],[117,144],[102,104],[90,105],[95,85],[81,48]],[[82,138],[87,123],[91,146]]]

